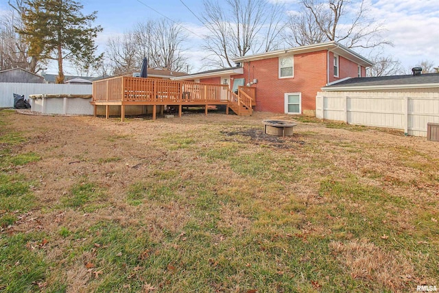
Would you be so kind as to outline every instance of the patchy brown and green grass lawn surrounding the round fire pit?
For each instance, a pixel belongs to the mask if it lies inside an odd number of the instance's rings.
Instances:
[[[439,143],[268,118],[0,111],[0,291],[439,287]]]

